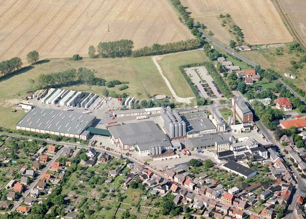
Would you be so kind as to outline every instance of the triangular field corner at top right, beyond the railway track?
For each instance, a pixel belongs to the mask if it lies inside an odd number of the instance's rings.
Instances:
[[[297,34],[306,43],[306,20],[304,19],[306,1],[278,0],[278,2],[287,14]]]

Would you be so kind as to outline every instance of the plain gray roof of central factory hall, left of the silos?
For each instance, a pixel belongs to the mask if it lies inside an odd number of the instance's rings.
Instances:
[[[140,150],[148,150],[152,144],[171,146],[166,134],[153,121],[111,126],[108,130],[114,138],[120,138],[123,145],[138,145]]]

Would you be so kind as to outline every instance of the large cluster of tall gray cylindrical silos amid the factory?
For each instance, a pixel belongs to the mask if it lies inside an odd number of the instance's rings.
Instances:
[[[164,130],[170,138],[186,136],[186,123],[178,115],[177,111],[172,111],[170,106],[161,109],[161,117],[164,121]]]

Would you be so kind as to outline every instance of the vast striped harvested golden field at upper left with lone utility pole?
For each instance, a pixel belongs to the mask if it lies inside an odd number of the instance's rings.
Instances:
[[[32,50],[41,59],[88,56],[101,41],[128,39],[140,48],[193,37],[163,0],[2,0],[0,17],[0,60],[26,62]]]

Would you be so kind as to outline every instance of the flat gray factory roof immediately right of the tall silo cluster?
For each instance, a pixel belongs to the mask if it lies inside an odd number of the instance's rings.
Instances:
[[[193,132],[200,132],[209,129],[216,129],[216,126],[207,117],[200,117],[195,113],[184,115],[187,119],[186,122],[186,132],[188,134]]]

